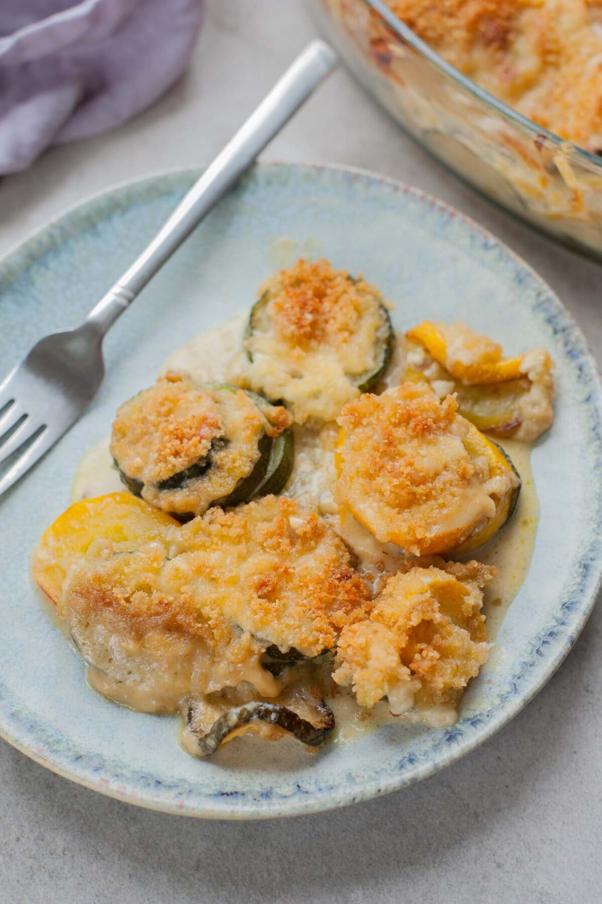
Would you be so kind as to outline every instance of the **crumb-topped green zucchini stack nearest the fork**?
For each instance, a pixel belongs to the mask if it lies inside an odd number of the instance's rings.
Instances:
[[[131,493],[185,521],[279,492],[294,464],[289,420],[256,393],[167,373],[119,408],[111,454]]]

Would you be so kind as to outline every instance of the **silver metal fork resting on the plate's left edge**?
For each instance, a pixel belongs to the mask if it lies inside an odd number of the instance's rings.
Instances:
[[[61,438],[95,395],[105,373],[102,340],[118,316],[335,63],[327,44],[310,43],[83,324],[46,336],[0,384],[0,495]]]

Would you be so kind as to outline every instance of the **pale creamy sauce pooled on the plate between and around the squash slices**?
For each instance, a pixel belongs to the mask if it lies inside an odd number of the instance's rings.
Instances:
[[[171,354],[161,372],[186,371],[198,381],[223,381],[230,358],[240,347],[247,317],[248,312],[244,311],[221,327],[197,336],[192,342]],[[383,388],[399,384],[403,368],[403,344],[398,343],[390,370],[383,381]],[[360,567],[366,576],[374,581],[375,589],[378,589],[382,576],[397,570],[400,562],[404,560],[404,555],[399,547],[377,541],[353,516],[350,515],[343,523],[341,522],[332,494],[335,479],[334,444],[337,432],[335,424],[326,424],[319,429],[295,428],[296,462],[285,493],[296,498],[300,504],[317,509],[325,520],[332,524],[353,549]],[[82,457],[73,482],[73,502],[123,489],[117,470],[113,466],[108,444],[109,440],[105,438]],[[522,476],[519,503],[513,519],[503,531],[482,550],[465,557],[495,565],[499,570],[499,576],[485,590],[484,596],[484,615],[490,642],[497,635],[503,616],[529,569],[539,514],[529,463],[530,447],[515,440],[503,441],[501,445],[512,457]],[[115,693],[111,692],[106,679],[99,673],[89,673],[89,683],[115,699]],[[332,692],[326,694],[326,701],[332,707],[336,718],[336,728],[331,741],[335,744],[345,743],[366,731],[375,730],[383,722],[401,720],[407,723],[421,722],[433,727],[444,727],[452,724],[457,716],[452,707],[443,706],[428,711],[410,711],[401,717],[393,717],[386,702],[380,702],[372,710],[367,711],[357,705],[351,691],[338,688],[333,683],[331,687]],[[127,699],[122,695],[119,702],[135,709],[146,708],[144,701],[137,699],[136,693]]]

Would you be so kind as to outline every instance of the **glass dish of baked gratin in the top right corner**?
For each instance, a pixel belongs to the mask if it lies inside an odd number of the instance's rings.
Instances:
[[[317,0],[362,84],[505,208],[602,256],[598,0]]]

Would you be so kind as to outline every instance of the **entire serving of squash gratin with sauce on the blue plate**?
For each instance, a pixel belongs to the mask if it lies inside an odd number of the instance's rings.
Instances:
[[[326,260],[277,273],[121,405],[43,534],[91,686],[179,712],[195,756],[317,747],[339,713],[450,724],[487,660],[505,538],[528,547],[509,447],[550,427],[552,363],[461,324],[396,335],[389,309]]]

